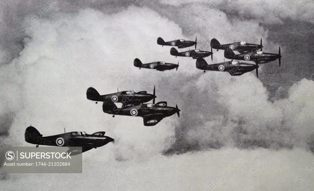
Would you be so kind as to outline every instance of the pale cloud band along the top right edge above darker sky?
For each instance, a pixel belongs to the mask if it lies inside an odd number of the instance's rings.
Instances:
[[[160,3],[173,6],[200,3],[213,9],[220,9],[226,13],[236,13],[246,19],[259,19],[267,24],[283,24],[282,19],[314,23],[313,2],[308,0],[284,1],[246,1],[246,0],[162,0]],[[201,14],[201,13],[200,13]]]

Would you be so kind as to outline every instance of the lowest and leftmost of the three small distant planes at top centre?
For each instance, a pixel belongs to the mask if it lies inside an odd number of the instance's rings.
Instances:
[[[138,58],[134,59],[133,62],[135,67],[141,68],[148,68],[148,69],[156,69],[158,71],[165,71],[165,70],[172,70],[176,68],[176,71],[178,71],[179,62],[178,64],[171,64],[171,63],[165,63],[164,61],[157,61],[157,62],[151,62],[147,64],[143,64]]]

